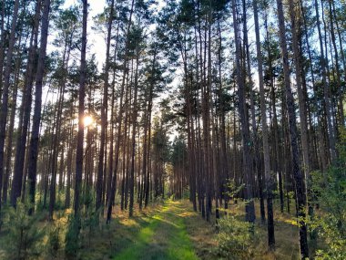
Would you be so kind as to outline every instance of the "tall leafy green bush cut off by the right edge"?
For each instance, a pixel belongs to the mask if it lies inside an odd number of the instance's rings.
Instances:
[[[311,197],[320,208],[310,219],[325,246],[316,259],[346,259],[346,131],[341,130],[339,157],[326,172],[311,173]]]

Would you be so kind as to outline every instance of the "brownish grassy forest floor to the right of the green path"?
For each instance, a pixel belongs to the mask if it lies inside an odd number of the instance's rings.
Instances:
[[[198,257],[206,260],[222,259],[214,250],[218,245],[215,214],[211,215],[210,222],[207,223],[200,213],[192,211],[192,205],[188,201],[183,202],[182,206],[187,209],[184,213],[185,222]],[[255,206],[256,212],[260,213],[259,203],[255,202]],[[223,212],[220,214],[225,215]],[[239,221],[245,219],[244,208],[241,206],[230,209],[229,214],[235,216]],[[255,232],[257,237],[253,242],[256,254],[254,259],[300,259],[298,225],[293,215],[281,214],[279,211],[275,213],[276,250],[274,253],[268,251],[267,225],[260,224],[260,220],[257,221]]]

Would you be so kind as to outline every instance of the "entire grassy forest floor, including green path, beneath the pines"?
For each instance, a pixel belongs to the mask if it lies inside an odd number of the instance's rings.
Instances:
[[[259,203],[256,202],[256,213],[259,215]],[[66,230],[68,212],[56,217],[56,224]],[[223,212],[221,212],[222,214]],[[229,205],[229,213],[244,219],[244,210],[239,205]],[[267,250],[266,225],[257,221],[255,225],[256,239],[251,259],[299,259],[298,226],[294,216],[289,213],[275,211],[276,251]],[[64,237],[60,234],[58,254],[55,259],[65,259]],[[121,212],[118,207],[110,224],[101,221],[99,228],[85,229],[81,234],[79,259],[114,259],[114,260],[189,260],[222,259],[215,250],[217,248],[215,214],[207,223],[200,213],[192,209],[188,200],[165,200],[154,203],[141,212],[135,210],[134,216],[128,218],[128,212]],[[0,235],[0,259],[2,235]],[[4,237],[3,237],[4,238]],[[45,239],[46,243],[47,239]],[[4,242],[4,241],[3,241]],[[38,259],[38,258],[37,258]],[[40,259],[47,259],[43,256]]]

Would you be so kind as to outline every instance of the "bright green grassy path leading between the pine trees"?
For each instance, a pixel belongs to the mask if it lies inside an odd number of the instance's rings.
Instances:
[[[167,201],[139,230],[134,242],[113,259],[198,259],[186,230],[184,214],[181,203]]]

